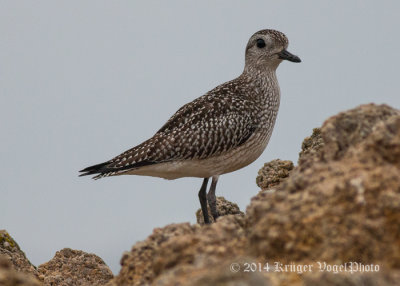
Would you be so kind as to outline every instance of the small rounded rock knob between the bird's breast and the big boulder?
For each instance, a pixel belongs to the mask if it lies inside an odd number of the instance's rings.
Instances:
[[[279,185],[285,178],[289,177],[290,171],[294,168],[292,161],[282,161],[279,159],[265,163],[258,171],[256,178],[257,186],[262,190]]]

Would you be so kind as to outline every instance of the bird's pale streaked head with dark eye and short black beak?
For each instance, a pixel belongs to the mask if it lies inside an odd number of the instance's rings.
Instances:
[[[286,49],[289,41],[285,34],[275,30],[261,30],[251,36],[246,47],[246,69],[276,70],[283,60],[299,63],[298,56]]]

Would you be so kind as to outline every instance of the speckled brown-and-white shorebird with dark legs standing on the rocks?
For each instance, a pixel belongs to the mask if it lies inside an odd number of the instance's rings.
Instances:
[[[301,62],[287,50],[288,44],[285,34],[277,30],[254,33],[245,49],[240,76],[183,105],[154,136],[111,160],[79,171],[80,176],[202,178],[198,197],[204,223],[210,223],[208,206],[216,220],[219,177],[251,164],[267,147],[280,104],[276,69],[283,60]]]

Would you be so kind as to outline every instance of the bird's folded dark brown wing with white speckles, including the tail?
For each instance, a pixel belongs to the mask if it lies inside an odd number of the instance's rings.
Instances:
[[[252,102],[230,94],[206,94],[181,107],[157,133],[114,159],[82,170],[119,175],[142,166],[204,159],[234,149],[253,134]]]

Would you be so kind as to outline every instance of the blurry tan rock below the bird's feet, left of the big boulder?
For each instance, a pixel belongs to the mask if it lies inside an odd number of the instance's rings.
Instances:
[[[243,227],[243,217],[227,215],[202,227],[182,223],[157,228],[124,254],[121,271],[110,285],[149,285],[155,280],[157,285],[191,285],[190,273],[208,272],[220,259],[240,255]]]

